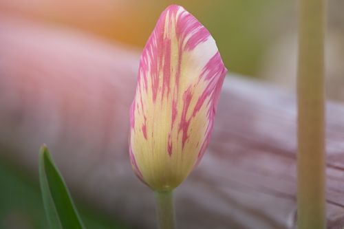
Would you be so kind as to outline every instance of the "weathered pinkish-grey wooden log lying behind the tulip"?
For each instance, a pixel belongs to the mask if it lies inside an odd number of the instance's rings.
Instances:
[[[0,16],[0,145],[9,149],[0,158],[36,171],[45,142],[74,196],[154,228],[153,193],[127,153],[138,57],[89,34]],[[295,108],[285,91],[228,75],[208,152],[175,192],[179,228],[294,227]],[[327,219],[344,226],[344,105],[332,102]]]

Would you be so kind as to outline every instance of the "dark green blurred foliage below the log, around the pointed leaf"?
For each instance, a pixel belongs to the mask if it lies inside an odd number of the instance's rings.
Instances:
[[[47,229],[38,179],[25,175],[17,166],[0,159],[0,228]],[[92,229],[125,229],[126,226],[90,209],[80,206],[85,227]]]

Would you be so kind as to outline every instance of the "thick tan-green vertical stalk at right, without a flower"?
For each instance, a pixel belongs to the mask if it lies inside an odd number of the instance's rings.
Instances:
[[[325,1],[299,0],[297,225],[323,229]]]

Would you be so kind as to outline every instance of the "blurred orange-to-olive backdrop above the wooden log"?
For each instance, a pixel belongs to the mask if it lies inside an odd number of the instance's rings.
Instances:
[[[0,10],[52,26],[83,30],[140,50],[160,12],[172,3],[184,6],[210,30],[231,72],[271,80],[282,86],[294,86],[292,78],[297,47],[295,0],[1,0]],[[328,1],[327,76],[331,87],[338,83],[343,85],[343,8],[341,0]],[[330,98],[343,99],[340,89],[329,91]]]

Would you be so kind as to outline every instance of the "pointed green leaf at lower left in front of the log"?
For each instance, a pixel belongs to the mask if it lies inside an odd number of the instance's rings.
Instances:
[[[50,228],[84,228],[65,181],[45,145],[39,152],[39,181]]]

